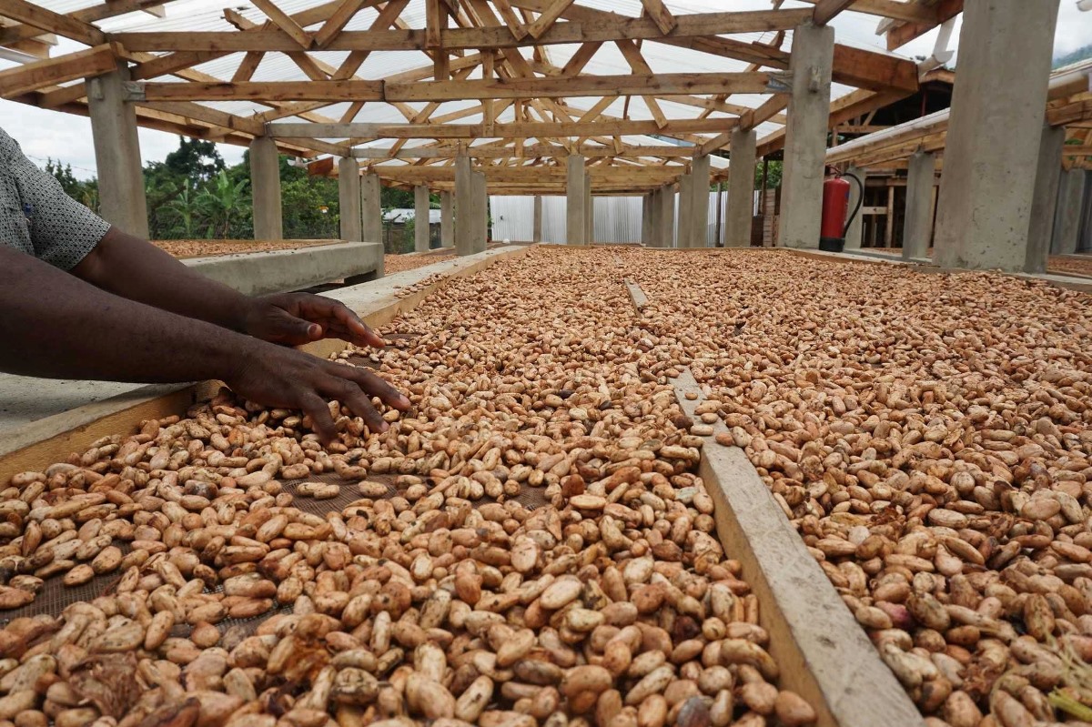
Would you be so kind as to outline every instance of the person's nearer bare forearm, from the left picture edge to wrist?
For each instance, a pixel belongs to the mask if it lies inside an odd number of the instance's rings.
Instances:
[[[0,370],[143,383],[227,379],[266,346],[126,300],[0,246]]]

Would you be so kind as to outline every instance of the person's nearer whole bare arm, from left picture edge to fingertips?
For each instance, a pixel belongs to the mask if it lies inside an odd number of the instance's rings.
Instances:
[[[324,440],[336,398],[372,431],[387,429],[370,396],[410,402],[364,369],[324,361],[210,322],[98,289],[0,246],[0,370],[141,383],[219,379],[239,395],[310,415]]]

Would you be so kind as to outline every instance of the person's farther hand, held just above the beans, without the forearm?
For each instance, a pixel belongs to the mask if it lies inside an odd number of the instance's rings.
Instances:
[[[343,303],[309,293],[251,298],[242,314],[241,332],[286,346],[341,338],[357,346],[383,347],[383,339]]]

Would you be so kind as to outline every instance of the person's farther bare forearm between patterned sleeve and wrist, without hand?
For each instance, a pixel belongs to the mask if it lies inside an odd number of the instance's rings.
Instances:
[[[246,296],[116,227],[72,273],[122,298],[233,331],[242,330],[249,301]]]

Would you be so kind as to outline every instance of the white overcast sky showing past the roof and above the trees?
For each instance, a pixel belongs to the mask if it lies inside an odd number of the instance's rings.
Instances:
[[[226,0],[206,0],[207,2],[219,2],[227,5]],[[737,0],[738,1],[738,0]],[[168,4],[168,19],[178,5],[182,3]],[[676,4],[676,3],[668,3]],[[680,7],[691,4],[705,4],[700,0],[681,0],[677,3]],[[741,4],[755,4],[756,7],[769,8],[768,0],[743,0]],[[799,3],[788,3],[788,5]],[[786,7],[788,7],[786,5]],[[853,45],[878,45],[880,38],[875,34],[878,19],[859,13],[843,13],[834,21],[838,38]],[[918,38],[899,52],[905,56],[928,56],[933,51],[937,32],[934,31],[922,38]],[[60,39],[60,44],[54,49],[54,55],[61,55],[78,50],[82,46],[79,44]],[[1076,0],[1061,0],[1058,16],[1058,28],[1054,39],[1054,55],[1061,56],[1076,50],[1082,45],[1092,40],[1092,12],[1080,12],[1077,9]],[[959,27],[957,25],[952,37],[952,45],[959,43]],[[0,68],[8,68],[11,63],[0,61]],[[87,178],[96,175],[95,152],[91,141],[91,122],[82,116],[72,114],[61,114],[38,109],[25,104],[16,104],[0,99],[0,127],[14,136],[23,146],[23,151],[34,162],[45,164],[47,157],[60,159],[64,164],[72,165],[72,171],[80,178]],[[145,162],[163,160],[167,154],[178,147],[178,138],[162,131],[149,129],[140,130],[141,154]],[[236,164],[242,158],[244,147],[232,144],[219,144],[219,152],[225,162]]]

